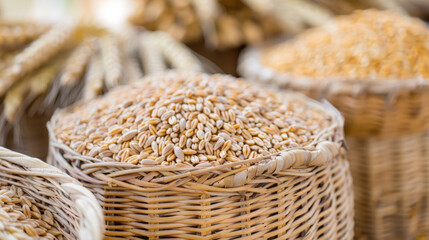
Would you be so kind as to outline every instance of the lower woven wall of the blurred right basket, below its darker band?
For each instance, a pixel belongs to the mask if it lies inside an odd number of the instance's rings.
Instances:
[[[429,131],[393,139],[348,137],[356,234],[429,237]]]

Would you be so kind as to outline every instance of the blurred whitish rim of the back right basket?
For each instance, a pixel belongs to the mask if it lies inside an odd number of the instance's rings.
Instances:
[[[284,38],[282,38],[284,41]],[[287,41],[287,40],[286,40]],[[294,76],[286,72],[277,71],[260,61],[264,49],[278,43],[269,41],[259,46],[249,46],[239,56],[237,71],[240,75],[257,79],[263,83],[274,83],[277,86],[292,87],[299,90],[316,90],[321,97],[330,94],[378,94],[392,95],[404,91],[429,90],[429,78],[400,79],[373,79],[373,78],[347,78],[309,76]]]

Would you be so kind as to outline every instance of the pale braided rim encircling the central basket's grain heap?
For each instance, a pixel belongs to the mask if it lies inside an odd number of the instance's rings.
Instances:
[[[222,164],[220,166],[207,166],[207,165],[197,165],[192,167],[182,167],[182,166],[162,166],[162,165],[133,165],[129,163],[122,162],[104,162],[100,159],[83,156],[69,146],[61,143],[54,134],[55,123],[58,121],[58,118],[61,117],[61,114],[73,109],[75,105],[72,105],[68,108],[57,109],[52,116],[51,120],[47,123],[47,128],[49,132],[49,144],[51,148],[51,153],[56,154],[56,150],[62,151],[61,154],[67,154],[68,159],[76,159],[83,164],[81,165],[82,169],[100,167],[100,168],[109,168],[115,167],[120,168],[121,170],[110,173],[109,177],[117,177],[121,175],[126,175],[130,173],[138,172],[147,172],[147,171],[175,171],[181,172],[181,174],[169,177],[163,177],[154,182],[166,182],[172,179],[178,179],[184,176],[197,176],[202,175],[211,171],[217,171],[222,169],[231,168],[236,165],[241,165],[242,171],[247,171],[252,167],[256,167],[258,176],[261,174],[279,172],[284,170],[291,169],[302,169],[302,168],[313,168],[317,166],[322,166],[328,164],[332,161],[334,156],[336,156],[340,149],[344,146],[344,118],[340,112],[334,108],[329,102],[324,100],[323,102],[316,101],[314,99],[306,97],[301,93],[284,93],[291,97],[293,100],[303,101],[305,104],[310,105],[316,109],[323,111],[325,114],[331,117],[332,123],[330,128],[324,129],[320,134],[322,140],[315,141],[313,144],[310,144],[306,147],[296,147],[291,148],[285,151],[278,152],[276,154],[257,157],[253,159],[247,159],[243,161],[237,161],[234,163]],[[77,103],[79,104],[79,103]],[[317,139],[317,138],[316,138]],[[58,153],[60,154],[60,153]],[[271,158],[271,156],[277,156]],[[59,157],[59,156],[55,156]],[[268,160],[267,160],[268,158]],[[243,167],[244,165],[248,165]],[[71,167],[71,166],[70,166]],[[234,180],[234,186],[242,185],[243,181],[240,179],[244,177],[243,173],[238,173],[237,179]],[[246,174],[247,176],[247,174]]]

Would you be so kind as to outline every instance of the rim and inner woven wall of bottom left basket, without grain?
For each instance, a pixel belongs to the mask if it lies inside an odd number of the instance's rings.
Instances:
[[[0,147],[0,181],[22,188],[51,211],[65,239],[102,239],[103,213],[96,198],[58,168]]]

